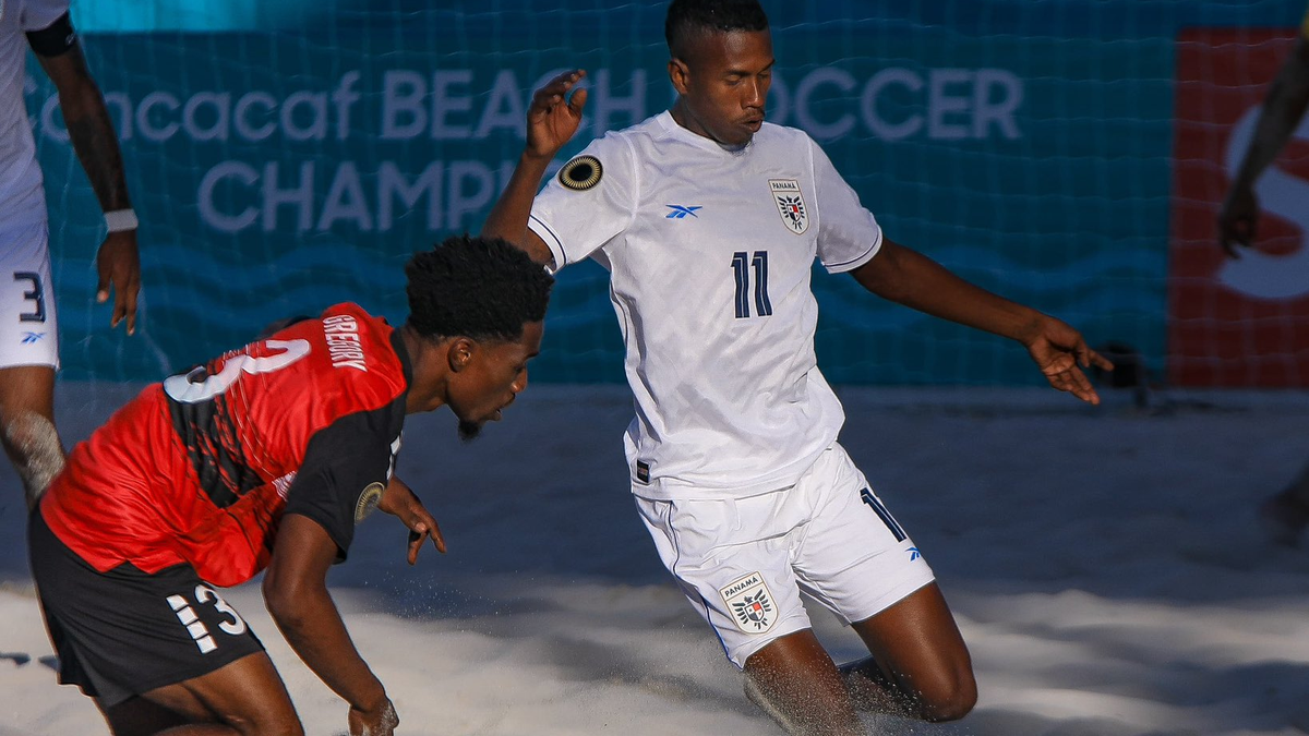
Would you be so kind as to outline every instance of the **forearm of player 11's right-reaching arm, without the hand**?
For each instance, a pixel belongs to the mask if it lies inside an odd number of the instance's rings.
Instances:
[[[1018,342],[1035,334],[1043,320],[1039,312],[977,287],[890,240],[853,275],[882,299]]]

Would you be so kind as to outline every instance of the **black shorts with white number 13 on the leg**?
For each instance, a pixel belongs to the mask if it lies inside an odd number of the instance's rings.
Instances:
[[[98,572],[50,530],[39,509],[27,525],[27,551],[59,681],[103,706],[263,651],[190,564],[154,575],[131,563]]]

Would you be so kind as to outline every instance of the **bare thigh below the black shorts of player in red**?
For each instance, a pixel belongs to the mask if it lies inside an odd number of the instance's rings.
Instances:
[[[304,729],[272,660],[264,652],[246,655],[213,672],[156,688],[147,701],[191,723],[219,722],[241,733],[298,735]]]

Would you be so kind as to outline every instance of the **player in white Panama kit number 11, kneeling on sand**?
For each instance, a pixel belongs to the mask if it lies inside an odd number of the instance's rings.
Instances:
[[[763,122],[774,56],[755,1],[674,0],[666,35],[672,110],[593,141],[535,195],[577,128],[583,72],[538,90],[486,234],[552,268],[592,257],[611,271],[636,399],[632,492],[751,699],[801,733],[860,732],[856,705],[962,718],[977,686],[949,608],[835,441],[844,415],[816,367],[813,259],[1021,342],[1052,386],[1085,401],[1098,398],[1077,363],[1109,361],[1059,320],[891,242],[802,131]],[[801,589],[868,644],[844,680]]]

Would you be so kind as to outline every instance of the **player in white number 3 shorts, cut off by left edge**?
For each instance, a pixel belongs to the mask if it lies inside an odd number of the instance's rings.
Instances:
[[[118,136],[68,1],[0,0],[0,440],[30,507],[63,468],[64,449],[54,424],[59,334],[46,198],[22,97],[27,46],[59,90],[68,136],[105,211],[96,299],[106,301],[113,291],[111,325],[127,320],[128,334],[136,330],[140,258]]]

